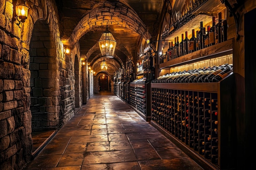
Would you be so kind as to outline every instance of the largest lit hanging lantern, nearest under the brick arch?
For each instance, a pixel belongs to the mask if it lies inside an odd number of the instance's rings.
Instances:
[[[115,49],[116,49],[117,42],[113,37],[112,33],[107,30],[101,35],[99,39],[99,48],[101,50],[101,55],[103,57],[113,58]]]

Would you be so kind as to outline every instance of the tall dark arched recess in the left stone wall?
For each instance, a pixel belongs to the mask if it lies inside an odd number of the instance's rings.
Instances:
[[[58,100],[54,96],[57,73],[52,51],[55,49],[51,43],[49,24],[36,21],[29,44],[32,131],[56,130],[59,121]]]

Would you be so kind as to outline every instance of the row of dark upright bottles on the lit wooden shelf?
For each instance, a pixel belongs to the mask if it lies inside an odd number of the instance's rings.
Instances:
[[[227,20],[222,20],[221,12],[218,13],[217,24],[215,16],[212,18],[212,26],[207,26],[207,28],[203,27],[203,22],[201,21],[196,35],[195,29],[192,29],[192,37],[190,39],[188,38],[188,31],[185,31],[185,35],[181,35],[181,41],[177,36],[174,38],[174,44],[169,42],[169,49],[159,57],[160,63],[226,41],[227,27]]]

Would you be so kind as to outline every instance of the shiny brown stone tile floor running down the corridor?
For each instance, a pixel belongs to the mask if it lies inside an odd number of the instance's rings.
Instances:
[[[109,91],[88,99],[25,170],[203,170]]]

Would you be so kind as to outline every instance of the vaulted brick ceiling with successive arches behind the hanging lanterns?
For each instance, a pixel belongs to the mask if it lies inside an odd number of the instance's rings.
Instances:
[[[56,0],[56,4],[61,38],[79,42],[81,56],[87,57],[96,74],[103,60],[98,41],[108,25],[117,41],[114,58],[107,59],[108,73],[114,75],[122,63],[137,57],[140,38],[157,39],[163,0]]]

